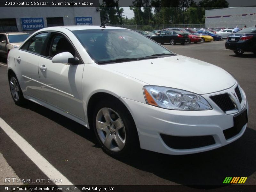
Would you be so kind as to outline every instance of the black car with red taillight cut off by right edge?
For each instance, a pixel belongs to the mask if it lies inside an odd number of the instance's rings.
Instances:
[[[256,27],[244,28],[233,35],[230,34],[225,47],[233,50],[237,55],[242,55],[244,52],[256,54]]]

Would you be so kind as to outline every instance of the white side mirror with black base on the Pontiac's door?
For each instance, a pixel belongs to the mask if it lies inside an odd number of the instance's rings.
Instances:
[[[79,59],[74,57],[70,52],[62,52],[52,58],[53,63],[63,63],[67,65],[78,65]]]

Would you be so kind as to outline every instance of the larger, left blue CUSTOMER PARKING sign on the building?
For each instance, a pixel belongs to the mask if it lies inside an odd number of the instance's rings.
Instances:
[[[35,30],[44,28],[44,18],[20,18],[22,30]]]

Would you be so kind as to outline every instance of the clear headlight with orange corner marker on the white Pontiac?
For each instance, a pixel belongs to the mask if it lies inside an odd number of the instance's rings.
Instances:
[[[180,89],[146,85],[144,96],[149,105],[175,110],[210,110],[211,105],[200,95]]]

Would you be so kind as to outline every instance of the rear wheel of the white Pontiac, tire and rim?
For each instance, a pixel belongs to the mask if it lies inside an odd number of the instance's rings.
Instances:
[[[18,82],[17,77],[12,73],[9,78],[10,91],[12,95],[12,99],[15,104],[21,106],[25,104],[25,99],[23,97],[23,93],[20,88],[20,84]]]

